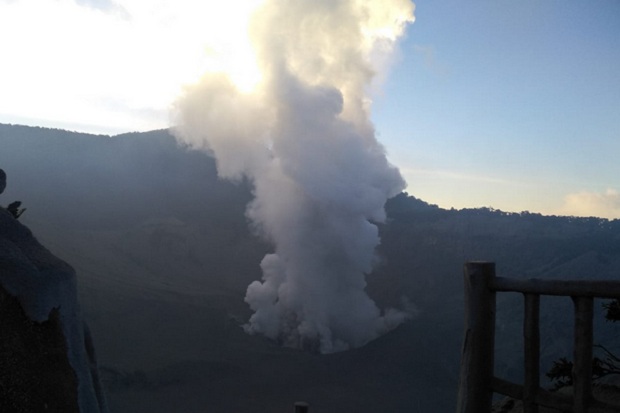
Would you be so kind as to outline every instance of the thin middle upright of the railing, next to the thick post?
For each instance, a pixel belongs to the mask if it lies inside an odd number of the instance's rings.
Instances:
[[[525,294],[523,319],[523,346],[525,355],[525,383],[523,385],[523,412],[538,413],[536,396],[540,389],[540,296]]]

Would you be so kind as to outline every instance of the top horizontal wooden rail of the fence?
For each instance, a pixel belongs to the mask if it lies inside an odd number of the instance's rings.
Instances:
[[[526,280],[495,277],[491,282],[491,289],[538,295],[620,298],[620,281],[607,280]]]

